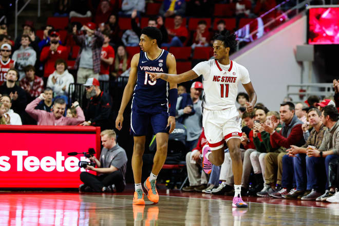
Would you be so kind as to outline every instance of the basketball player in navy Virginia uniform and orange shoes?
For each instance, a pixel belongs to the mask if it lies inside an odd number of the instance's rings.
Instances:
[[[168,134],[175,129],[175,114],[178,90],[176,83],[162,79],[152,81],[147,71],[176,74],[174,55],[160,49],[158,43],[161,31],[155,27],[145,27],[140,35],[140,53],[133,56],[130,74],[125,87],[118,117],[117,129],[122,128],[123,112],[132,97],[130,130],[134,136],[132,168],[135,181],[133,204],[144,205],[144,193],[141,186],[142,155],[149,123],[157,140],[157,152],[154,156],[152,173],[144,182],[147,198],[157,203],[159,195],[156,189],[157,176],[167,156]],[[168,105],[171,104],[171,108]]]

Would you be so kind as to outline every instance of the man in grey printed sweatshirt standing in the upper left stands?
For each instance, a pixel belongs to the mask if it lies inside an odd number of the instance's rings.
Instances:
[[[19,71],[19,80],[25,77],[24,68],[27,65],[34,65],[36,61],[36,52],[29,46],[31,39],[27,34],[21,37],[21,46],[15,50],[12,59],[15,61],[15,68]]]

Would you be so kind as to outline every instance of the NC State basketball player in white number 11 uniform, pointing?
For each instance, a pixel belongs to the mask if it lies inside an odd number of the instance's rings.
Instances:
[[[235,106],[238,93],[238,83],[246,89],[250,102],[246,103],[248,112],[253,111],[257,100],[256,93],[250,81],[248,70],[231,61],[230,51],[236,48],[236,35],[224,31],[214,37],[214,59],[200,62],[192,70],[182,74],[165,74],[149,72],[150,78],[163,79],[170,83],[182,83],[195,79],[202,74],[203,116],[202,126],[209,147],[202,152],[202,167],[210,173],[212,164],[221,165],[224,160],[224,142],[230,150],[232,170],[234,175],[234,198],[232,206],[243,208],[248,205],[241,199],[242,161],[240,156],[241,119]],[[148,73],[148,72],[147,72]],[[211,164],[212,163],[212,164]]]

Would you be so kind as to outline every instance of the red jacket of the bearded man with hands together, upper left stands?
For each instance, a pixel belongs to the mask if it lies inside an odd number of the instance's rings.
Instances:
[[[55,70],[54,64],[57,59],[68,59],[68,49],[65,46],[59,45],[58,49],[54,51],[49,50],[50,46],[45,46],[41,51],[40,61],[45,62],[44,77],[48,78],[51,73]],[[66,70],[67,68],[65,68]]]

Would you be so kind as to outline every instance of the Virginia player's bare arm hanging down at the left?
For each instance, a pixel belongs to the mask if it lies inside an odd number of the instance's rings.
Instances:
[[[139,55],[140,53],[135,54],[130,62],[129,78],[125,86],[124,93],[122,95],[120,109],[119,109],[118,116],[116,119],[116,128],[119,130],[121,130],[122,122],[124,121],[123,114],[124,114],[125,108],[130,98],[133,95],[133,90],[137,83],[137,72],[138,72],[137,70],[138,70]]]

